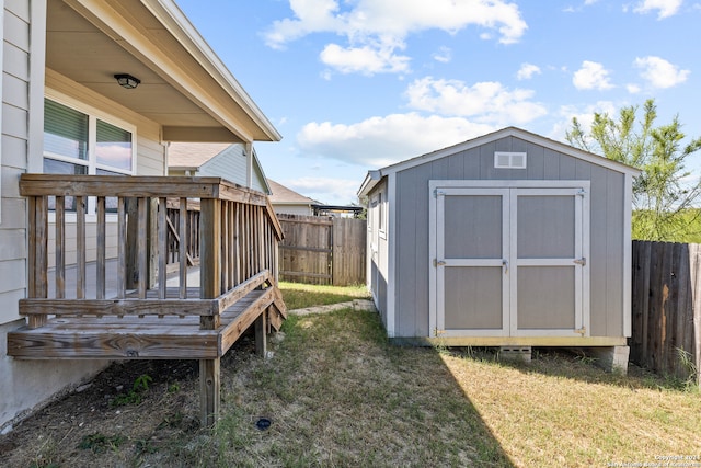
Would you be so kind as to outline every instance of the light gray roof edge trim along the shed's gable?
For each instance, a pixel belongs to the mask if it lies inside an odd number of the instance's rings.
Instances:
[[[587,162],[591,162],[594,164],[598,164],[608,169],[612,169],[618,172],[632,174],[636,176],[641,173],[640,170],[632,168],[630,165],[622,164],[620,162],[616,162],[613,160],[607,159],[602,156],[594,155],[591,152],[583,151],[573,146],[565,145],[560,141],[555,141],[550,138],[545,138],[541,135],[532,134],[530,132],[526,132],[524,129],[517,127],[506,127],[501,130],[493,132],[491,134],[486,134],[458,145],[453,145],[447,148],[439,149],[437,151],[428,152],[426,155],[422,155],[412,159],[407,159],[405,161],[398,162],[395,164],[388,165],[382,169],[378,169],[375,171],[368,171],[360,189],[358,190],[358,196],[366,196],[375,185],[384,176],[391,173],[397,173],[399,171],[403,171],[405,169],[414,168],[420,164],[425,164],[427,162],[435,161],[437,159],[444,158],[446,156],[455,155],[458,151],[466,151],[471,148],[475,148],[478,146],[495,141],[505,137],[516,137],[520,138],[525,141],[532,142],[535,145],[540,145],[545,148],[550,148],[553,151],[559,151],[573,158],[582,159]]]

